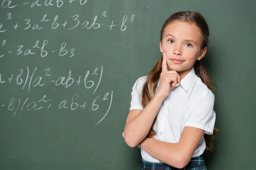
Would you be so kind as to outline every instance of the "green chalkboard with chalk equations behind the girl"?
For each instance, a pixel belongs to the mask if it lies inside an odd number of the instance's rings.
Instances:
[[[199,11],[216,127],[209,170],[256,169],[256,1],[0,0],[0,169],[140,170],[122,138],[131,88],[160,28]]]

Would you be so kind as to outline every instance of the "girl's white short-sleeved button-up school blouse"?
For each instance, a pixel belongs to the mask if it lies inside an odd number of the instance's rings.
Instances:
[[[146,78],[146,76],[140,77],[134,83],[131,92],[130,111],[132,109],[143,110],[141,92]],[[212,91],[207,88],[192,68],[180,83],[177,83],[170,91],[169,96],[164,99],[157,113],[157,123],[153,127],[157,132],[154,138],[177,143],[185,126],[197,127],[203,129],[206,134],[212,134],[215,124],[214,99],[215,96]],[[200,156],[205,148],[203,136],[192,157]],[[142,147],[141,156],[146,161],[160,162]]]

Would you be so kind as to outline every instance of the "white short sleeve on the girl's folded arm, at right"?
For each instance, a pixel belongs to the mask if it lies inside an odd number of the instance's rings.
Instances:
[[[215,96],[212,91],[204,91],[195,102],[191,114],[186,119],[184,126],[197,127],[204,133],[212,135],[215,125],[215,111],[213,110]]]

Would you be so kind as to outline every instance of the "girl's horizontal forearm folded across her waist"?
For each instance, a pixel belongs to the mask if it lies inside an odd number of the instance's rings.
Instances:
[[[154,138],[147,138],[141,143],[141,147],[154,158],[173,167],[183,168],[186,166],[179,143],[169,143]]]

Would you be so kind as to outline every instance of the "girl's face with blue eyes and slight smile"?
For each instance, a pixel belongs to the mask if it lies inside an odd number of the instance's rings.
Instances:
[[[207,48],[201,49],[201,34],[193,23],[174,21],[164,30],[160,51],[166,52],[168,70],[179,73],[180,79],[191,71],[195,61],[202,59]]]

